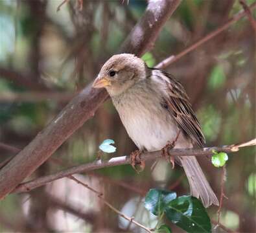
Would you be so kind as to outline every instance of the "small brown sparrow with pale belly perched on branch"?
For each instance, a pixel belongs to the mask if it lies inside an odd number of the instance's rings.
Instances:
[[[102,65],[94,88],[106,88],[129,137],[139,151],[202,148],[205,137],[192,110],[189,97],[174,76],[134,54],[115,54]],[[205,207],[219,205],[200,164],[194,156],[175,159],[183,167],[191,195]]]

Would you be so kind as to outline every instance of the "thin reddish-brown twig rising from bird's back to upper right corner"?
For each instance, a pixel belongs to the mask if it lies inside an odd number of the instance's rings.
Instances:
[[[251,4],[248,9],[252,10],[256,7],[256,3]],[[224,23],[224,25],[222,25],[221,27],[218,27],[216,30],[214,30],[213,32],[210,32],[209,34],[207,34],[206,36],[204,36],[204,38],[199,39],[198,41],[196,41],[196,43],[192,44],[191,46],[189,46],[187,49],[183,50],[182,52],[180,52],[177,55],[171,55],[168,58],[166,58],[165,60],[161,61],[160,63],[158,63],[156,65],[156,68],[158,69],[165,69],[166,67],[168,67],[171,63],[174,63],[175,61],[179,60],[181,57],[185,56],[186,54],[188,54],[189,52],[191,52],[192,50],[197,49],[198,47],[200,47],[200,45],[204,44],[205,42],[209,41],[210,39],[214,38],[215,36],[217,36],[218,34],[220,34],[220,32],[226,30],[227,28],[229,28],[229,26],[233,23],[235,23],[236,21],[238,21],[239,19],[241,19],[242,17],[246,16],[246,11],[242,11],[239,12],[238,14],[235,14],[235,16],[231,17],[226,23]],[[250,15],[251,16],[251,15]],[[249,16],[248,16],[249,17]],[[253,19],[253,18],[252,18]],[[254,19],[253,19],[254,21]]]

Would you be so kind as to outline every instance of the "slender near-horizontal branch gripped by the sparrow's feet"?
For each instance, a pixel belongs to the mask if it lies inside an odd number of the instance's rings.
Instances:
[[[172,149],[172,150],[169,150],[169,153],[171,156],[207,156],[207,155],[211,156],[213,155],[213,150],[230,153],[230,152],[238,151],[239,148],[242,148],[245,146],[254,146],[255,144],[256,144],[256,139],[253,139],[250,142],[246,142],[243,144],[222,146],[222,147],[211,147],[211,148],[203,148],[203,149]],[[146,152],[141,154],[142,161],[159,159],[161,157],[162,157],[161,151]],[[44,177],[40,177],[38,179],[34,179],[32,181],[19,184],[19,186],[17,186],[13,192],[15,193],[29,192],[33,188],[43,186],[47,183],[50,183],[57,179],[68,177],[69,175],[73,175],[75,173],[91,172],[93,170],[98,170],[100,168],[107,168],[111,166],[118,166],[118,165],[129,164],[129,163],[130,163],[130,156],[121,156],[121,157],[114,157],[109,161],[95,161],[87,164],[82,164],[79,166],[74,166],[73,168],[69,168],[67,170],[62,170],[52,175],[46,175]]]

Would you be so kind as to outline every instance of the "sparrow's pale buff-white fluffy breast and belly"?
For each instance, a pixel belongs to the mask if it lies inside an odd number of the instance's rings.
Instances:
[[[176,138],[179,129],[169,111],[161,106],[161,96],[143,93],[134,91],[122,98],[112,98],[113,104],[128,135],[140,150],[160,150],[168,140]]]

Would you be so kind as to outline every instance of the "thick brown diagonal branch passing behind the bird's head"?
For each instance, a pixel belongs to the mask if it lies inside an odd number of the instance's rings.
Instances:
[[[128,35],[119,52],[132,52],[137,56],[146,52],[180,1],[149,1],[144,16]],[[75,96],[60,114],[0,171],[0,199],[14,190],[17,184],[45,162],[76,129],[93,117],[106,98],[108,94],[104,89],[92,89],[91,84]]]

